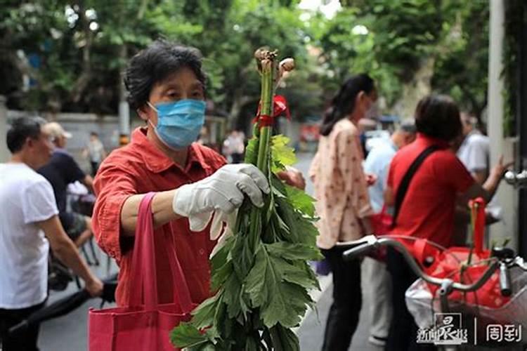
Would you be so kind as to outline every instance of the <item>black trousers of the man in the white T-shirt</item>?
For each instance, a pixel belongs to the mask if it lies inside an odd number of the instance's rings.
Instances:
[[[44,307],[43,303],[19,310],[4,310],[0,308],[0,350],[2,351],[38,351],[39,325],[32,326],[15,336],[9,335],[9,328],[22,322],[33,312]]]

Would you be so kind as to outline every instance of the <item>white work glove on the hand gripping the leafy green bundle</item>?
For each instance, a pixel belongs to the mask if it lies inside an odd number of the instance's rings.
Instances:
[[[267,178],[252,164],[228,164],[212,176],[178,187],[172,209],[188,217],[190,230],[207,227],[214,211],[232,213],[242,205],[244,194],[255,206],[263,206],[263,195],[271,191]]]

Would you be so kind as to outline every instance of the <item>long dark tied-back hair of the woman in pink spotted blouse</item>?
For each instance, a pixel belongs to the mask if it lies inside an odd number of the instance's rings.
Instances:
[[[358,93],[364,91],[369,94],[374,90],[375,82],[365,73],[347,79],[334,96],[331,106],[324,113],[320,134],[329,135],[339,120],[353,112]]]

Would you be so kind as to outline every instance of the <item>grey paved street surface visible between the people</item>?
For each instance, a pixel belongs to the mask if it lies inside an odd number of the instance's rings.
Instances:
[[[304,173],[307,179],[307,171],[311,163],[311,154],[299,154],[299,163],[297,167]],[[306,189],[310,194],[313,193],[313,186],[310,182]],[[106,258],[101,253],[101,266],[96,268],[99,277],[105,277],[107,274]],[[111,272],[117,272],[115,264],[110,266]],[[324,327],[327,317],[327,312],[331,304],[332,284],[331,277],[321,277],[320,284],[323,286],[322,292],[313,292],[313,298],[317,300],[316,312],[310,311],[304,318],[297,333],[300,338],[301,350],[315,351],[320,350],[323,342]],[[56,300],[67,293],[76,291],[76,286],[70,284],[67,291],[61,293],[52,293],[50,301]],[[363,296],[363,306],[369,303],[368,296]],[[67,316],[53,319],[42,324],[39,338],[39,347],[42,351],[72,351],[72,350],[86,350],[86,332],[87,332],[87,317],[90,307],[98,308],[100,300],[90,300],[82,307],[74,312],[67,314]],[[105,307],[108,307],[106,305]],[[360,315],[360,322],[358,331],[353,338],[350,350],[359,351],[379,351],[379,347],[374,347],[367,343],[369,317],[363,308]]]

